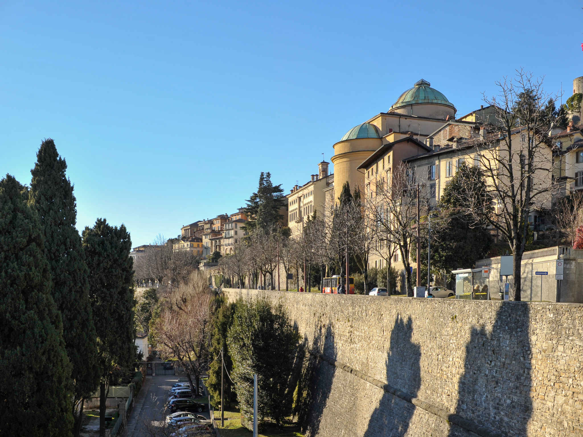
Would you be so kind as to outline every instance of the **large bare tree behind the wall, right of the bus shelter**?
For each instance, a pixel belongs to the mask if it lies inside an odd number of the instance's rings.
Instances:
[[[542,79],[521,69],[514,79],[505,77],[496,84],[500,93],[491,98],[484,96],[484,102],[496,113],[497,132],[476,147],[494,208],[489,212],[491,205],[477,199],[466,210],[494,227],[508,242],[514,255],[514,300],[519,301],[528,216],[535,209],[550,207],[553,195],[549,133],[556,120],[545,110],[549,96],[543,90]]]

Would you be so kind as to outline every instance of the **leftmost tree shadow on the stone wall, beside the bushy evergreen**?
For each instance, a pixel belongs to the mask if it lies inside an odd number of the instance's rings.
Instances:
[[[301,424],[301,430],[304,434],[318,435],[322,414],[332,389],[336,367],[307,353],[307,344],[308,339],[304,336],[304,366],[297,382],[294,415],[297,416],[298,423]],[[311,352],[314,354],[321,353],[336,360],[334,334],[329,326],[326,327],[326,332],[323,336],[322,329],[319,329],[314,338]]]

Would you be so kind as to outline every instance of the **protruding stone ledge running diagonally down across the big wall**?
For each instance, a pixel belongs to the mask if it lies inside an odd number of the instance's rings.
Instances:
[[[387,383],[387,382],[383,382],[379,379],[373,378],[372,376],[366,375],[363,372],[360,372],[356,369],[353,369],[351,366],[347,365],[346,363],[332,360],[332,358],[325,357],[325,355],[322,355],[320,353],[310,352],[310,355],[313,355],[314,357],[319,358],[319,360],[325,361],[328,364],[331,364],[331,365],[335,366],[336,368],[339,368],[340,370],[343,370],[347,373],[350,373],[351,375],[354,375],[357,378],[363,379],[366,382],[384,390],[384,392],[386,392],[386,393],[391,393],[393,396],[396,396],[399,399],[402,399],[410,404],[413,404],[416,407],[422,408],[423,410],[428,411],[429,413],[434,414],[437,417],[442,418],[443,420],[447,421],[448,423],[457,425],[460,428],[466,429],[466,431],[473,432],[474,434],[479,435],[480,437],[504,437],[505,436],[501,432],[491,431],[490,429],[488,429],[486,427],[480,427],[475,422],[467,420],[467,419],[461,417],[461,415],[459,415],[459,414],[449,413],[448,411],[445,411],[440,407],[434,406],[433,404],[430,404],[429,402],[423,401],[423,400],[419,399],[418,397],[412,396],[409,393],[405,393],[402,390],[399,390],[399,389],[389,385],[389,383]]]

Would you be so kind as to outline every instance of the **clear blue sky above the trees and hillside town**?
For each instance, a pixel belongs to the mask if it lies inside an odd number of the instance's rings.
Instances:
[[[524,67],[583,75],[569,2],[0,2],[0,174],[30,183],[53,138],[78,228],[132,244],[286,192],[354,125],[423,77],[458,115]]]

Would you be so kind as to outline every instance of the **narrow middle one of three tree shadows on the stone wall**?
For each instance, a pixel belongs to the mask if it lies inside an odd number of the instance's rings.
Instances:
[[[387,382],[403,392],[417,396],[421,386],[421,347],[412,342],[413,320],[405,322],[401,315],[395,319],[391,331],[391,342],[387,355]],[[409,422],[415,413],[415,406],[384,393],[377,408],[373,411],[365,437],[404,436]]]

